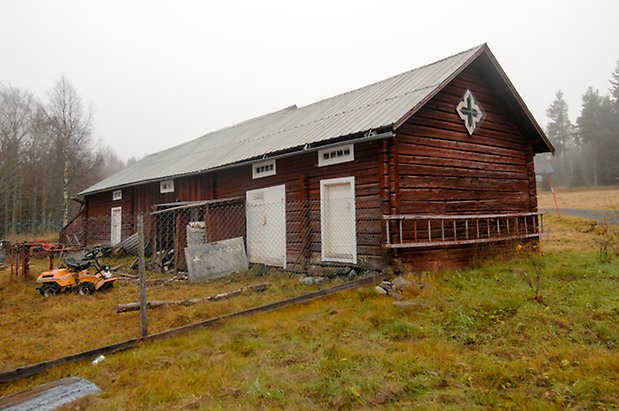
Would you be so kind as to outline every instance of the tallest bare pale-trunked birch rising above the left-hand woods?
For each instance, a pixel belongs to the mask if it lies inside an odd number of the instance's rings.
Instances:
[[[70,185],[81,156],[90,155],[92,113],[84,111],[82,100],[64,77],[49,92],[47,107],[50,131],[62,162],[62,224],[69,221]]]

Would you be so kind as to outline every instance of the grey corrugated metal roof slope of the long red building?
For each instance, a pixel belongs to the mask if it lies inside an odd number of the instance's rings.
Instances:
[[[424,103],[485,47],[481,45],[305,107],[290,106],[211,132],[144,157],[78,195],[198,173],[391,126]]]

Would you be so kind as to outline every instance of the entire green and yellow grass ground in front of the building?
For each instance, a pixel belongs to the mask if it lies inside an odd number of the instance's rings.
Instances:
[[[600,261],[603,226],[547,216],[546,229],[543,255],[410,277],[404,304],[361,288],[61,366],[0,385],[0,396],[72,375],[103,392],[70,409],[618,408],[619,260]],[[152,311],[152,331],[315,289],[249,273],[151,295],[263,281],[265,293]],[[43,300],[2,278],[0,297],[2,369],[139,332],[137,313],[114,313],[137,298],[133,284]]]

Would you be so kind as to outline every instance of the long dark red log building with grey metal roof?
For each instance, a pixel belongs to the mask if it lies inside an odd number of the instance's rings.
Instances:
[[[533,157],[552,151],[484,44],[147,156],[81,192],[78,219],[108,218],[103,237],[82,229],[113,244],[126,216],[226,199],[246,242],[278,238],[250,261],[463,266],[539,236]],[[267,223],[268,204],[283,206]]]

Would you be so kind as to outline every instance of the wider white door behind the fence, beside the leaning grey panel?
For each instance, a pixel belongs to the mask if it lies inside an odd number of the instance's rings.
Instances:
[[[245,212],[249,261],[286,268],[286,186],[248,191]]]

